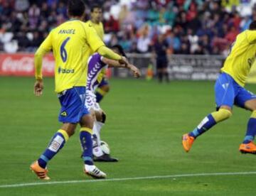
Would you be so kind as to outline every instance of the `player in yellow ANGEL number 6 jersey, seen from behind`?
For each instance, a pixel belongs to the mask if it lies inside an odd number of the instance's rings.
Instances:
[[[54,28],[40,45],[35,54],[36,83],[34,92],[40,96],[43,92],[42,59],[43,55],[53,50],[55,58],[55,92],[58,94],[61,109],[59,121],[63,123],[54,134],[46,151],[31,164],[31,170],[38,178],[49,180],[46,165],[55,156],[68,138],[75,133],[79,123],[80,143],[83,149],[84,172],[93,178],[105,178],[92,160],[92,116],[85,107],[85,86],[87,81],[87,60],[90,53],[96,52],[119,63],[128,65],[125,58],[107,48],[97,36],[95,29],[82,22],[85,4],[82,0],[68,1],[66,21]]]

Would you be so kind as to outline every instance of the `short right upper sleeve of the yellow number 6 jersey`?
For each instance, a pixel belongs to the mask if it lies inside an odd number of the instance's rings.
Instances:
[[[105,45],[101,38],[97,36],[95,29],[90,25],[88,25],[87,28],[87,43],[90,45],[90,48],[92,48],[93,52],[96,52],[98,48]]]

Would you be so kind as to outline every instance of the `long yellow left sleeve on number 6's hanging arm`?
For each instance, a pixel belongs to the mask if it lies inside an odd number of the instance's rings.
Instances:
[[[51,33],[47,36],[47,38],[41,43],[38,50],[35,53],[35,77],[36,80],[43,79],[42,74],[42,64],[43,64],[43,56],[46,55],[52,49],[52,38]]]

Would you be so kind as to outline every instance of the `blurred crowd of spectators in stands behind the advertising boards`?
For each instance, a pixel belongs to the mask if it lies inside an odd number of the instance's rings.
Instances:
[[[0,51],[34,52],[68,19],[61,0],[0,0]],[[85,0],[103,10],[105,43],[149,53],[159,37],[169,54],[227,55],[235,36],[256,20],[256,0]]]

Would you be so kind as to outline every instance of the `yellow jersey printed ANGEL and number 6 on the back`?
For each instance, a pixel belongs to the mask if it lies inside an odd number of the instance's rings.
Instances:
[[[55,58],[55,92],[85,87],[87,60],[105,45],[90,23],[78,19],[67,21],[50,31],[40,49],[53,50]]]

